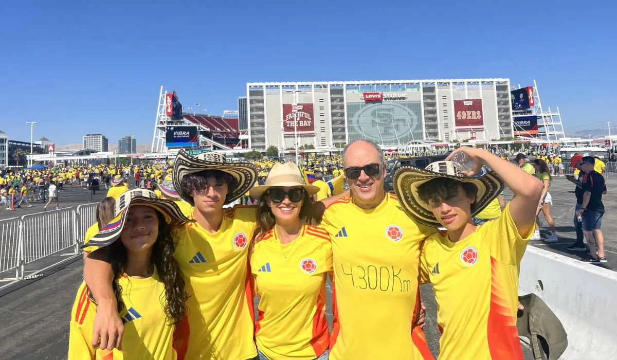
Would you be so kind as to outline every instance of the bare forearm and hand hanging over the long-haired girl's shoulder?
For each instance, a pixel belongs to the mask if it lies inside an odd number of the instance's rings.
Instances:
[[[107,259],[107,249],[102,248],[88,254],[83,264],[83,278],[97,303],[92,346],[122,350],[124,325],[118,315],[118,303],[112,289],[114,272]]]

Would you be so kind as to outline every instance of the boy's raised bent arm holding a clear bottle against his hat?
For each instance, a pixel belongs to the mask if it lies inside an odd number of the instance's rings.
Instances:
[[[542,183],[533,175],[528,174],[520,167],[509,161],[500,159],[489,151],[463,146],[458,148],[447,157],[452,159],[453,154],[462,151],[474,162],[474,169],[466,174],[473,175],[479,172],[482,165],[489,167],[495,174],[502,178],[505,185],[514,193],[510,201],[510,216],[518,233],[526,235],[536,221],[536,208],[542,195]]]

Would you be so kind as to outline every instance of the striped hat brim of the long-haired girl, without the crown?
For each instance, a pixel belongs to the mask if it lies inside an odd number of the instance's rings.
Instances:
[[[155,209],[163,214],[165,217],[165,222],[167,222],[167,224],[171,227],[178,227],[186,224],[187,222],[194,222],[194,220],[188,219],[188,217],[184,216],[178,204],[176,204],[173,200],[136,196],[131,198],[130,204],[128,204],[128,206],[126,206],[120,214],[111,220],[109,224],[105,225],[96,235],[94,235],[94,237],[88,241],[86,246],[98,246],[99,248],[102,248],[103,246],[111,245],[114,241],[118,240],[118,238],[120,238],[120,233],[122,233],[122,229],[124,228],[126,216],[130,211],[131,206],[134,205],[152,207],[152,209]]]

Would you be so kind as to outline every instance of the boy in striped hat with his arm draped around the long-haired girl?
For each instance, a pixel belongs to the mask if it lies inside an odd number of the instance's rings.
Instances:
[[[181,150],[172,178],[180,196],[195,207],[191,218],[196,220],[174,232],[175,258],[190,296],[188,324],[176,332],[178,358],[252,359],[257,350],[247,245],[255,230],[255,208],[236,206],[223,211],[223,205],[251,188],[257,169],[226,162],[222,154],[192,157]],[[84,266],[86,283],[99,303],[93,337],[101,337],[101,347],[112,349],[125,343],[123,326],[112,311],[110,266],[106,256],[97,258],[97,253],[86,257]]]

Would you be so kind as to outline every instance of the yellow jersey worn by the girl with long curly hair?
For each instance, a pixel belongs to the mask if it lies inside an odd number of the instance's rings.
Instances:
[[[122,351],[92,347],[96,304],[89,297],[86,283],[82,283],[71,312],[68,360],[175,360],[175,326],[165,314],[165,289],[156,269],[149,278],[124,276],[118,283],[125,304],[120,313],[124,322]]]

